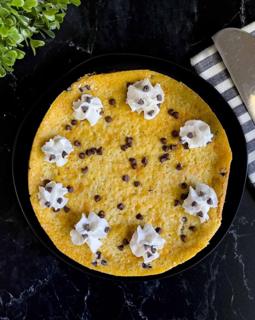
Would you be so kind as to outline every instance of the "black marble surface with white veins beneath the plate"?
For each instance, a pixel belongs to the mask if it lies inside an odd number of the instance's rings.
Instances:
[[[14,73],[0,79],[0,319],[254,319],[255,190],[248,182],[217,249],[164,280],[88,277],[52,256],[28,226],[12,185],[11,149],[22,118],[55,80],[89,57],[110,52],[148,54],[190,67],[189,58],[211,44],[216,31],[255,20],[254,0],[82,2],[69,7],[54,40],[35,57],[26,50]]]

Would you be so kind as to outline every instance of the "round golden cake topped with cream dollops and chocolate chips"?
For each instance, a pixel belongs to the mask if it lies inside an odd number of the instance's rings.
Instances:
[[[209,106],[150,70],[85,75],[33,141],[33,210],[64,254],[116,276],[159,274],[221,224],[232,154]]]

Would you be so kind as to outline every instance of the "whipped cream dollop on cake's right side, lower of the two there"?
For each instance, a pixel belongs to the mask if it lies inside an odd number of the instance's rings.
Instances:
[[[215,208],[217,205],[218,199],[214,189],[204,183],[198,182],[195,189],[191,186],[189,187],[189,195],[184,200],[182,207],[185,212],[195,217],[200,217],[200,222],[203,223],[209,219],[209,209]]]

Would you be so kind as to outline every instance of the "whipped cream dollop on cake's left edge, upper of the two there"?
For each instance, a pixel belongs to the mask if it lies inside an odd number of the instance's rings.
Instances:
[[[74,151],[71,142],[61,136],[55,136],[50,139],[41,149],[45,154],[43,160],[50,163],[55,162],[57,167],[66,164],[68,161],[67,156]]]

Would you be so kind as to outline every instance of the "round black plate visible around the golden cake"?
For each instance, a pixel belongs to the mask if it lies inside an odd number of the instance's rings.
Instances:
[[[41,228],[40,223],[33,212],[26,182],[27,166],[36,131],[50,104],[55,100],[58,94],[68,88],[70,84],[77,81],[79,77],[84,76],[84,74],[92,73],[93,71],[97,73],[107,73],[112,70],[121,71],[132,69],[150,69],[163,73],[177,81],[183,82],[196,92],[206,103],[208,103],[225,129],[233,153],[233,160],[231,163],[226,202],[222,212],[222,224],[211,239],[210,244],[202,251],[198,252],[192,259],[162,274],[138,277],[117,277],[86,268],[64,255],[55,247],[46,232]],[[247,173],[247,150],[242,128],[234,112],[222,96],[200,76],[197,76],[186,68],[162,59],[135,54],[107,54],[91,58],[72,69],[35,103],[18,130],[13,148],[12,172],[16,194],[25,218],[36,236],[38,236],[40,241],[52,253],[69,265],[93,276],[113,280],[148,281],[172,276],[194,266],[212,252],[212,250],[221,242],[235,218],[243,195]]]

